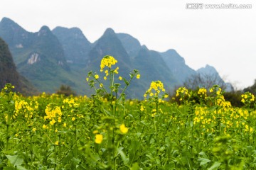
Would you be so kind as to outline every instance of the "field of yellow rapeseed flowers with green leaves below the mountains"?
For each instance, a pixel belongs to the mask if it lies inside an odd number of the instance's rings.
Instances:
[[[256,169],[253,94],[241,96],[242,108],[225,101],[218,85],[181,87],[167,101],[164,84],[152,81],[143,101],[127,100],[125,90],[140,74],[124,79],[115,64],[102,59],[104,82],[89,72],[91,97],[24,97],[6,84],[0,169]]]

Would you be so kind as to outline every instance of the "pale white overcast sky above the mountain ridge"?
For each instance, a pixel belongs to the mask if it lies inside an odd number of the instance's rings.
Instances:
[[[1,0],[0,19],[24,29],[78,27],[94,42],[107,28],[128,33],[150,50],[176,50],[193,69],[210,64],[238,88],[256,79],[256,1]],[[192,4],[191,4],[192,3]],[[201,3],[199,9],[193,3]],[[252,8],[206,8],[250,4]],[[186,8],[186,6],[188,8]]]

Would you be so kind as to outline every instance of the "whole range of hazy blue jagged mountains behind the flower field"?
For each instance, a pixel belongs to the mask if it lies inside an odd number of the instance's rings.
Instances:
[[[129,79],[133,69],[141,73],[141,79],[133,80],[128,88],[129,98],[142,98],[151,81],[163,81],[166,90],[173,91],[196,74],[175,50],[149,50],[131,35],[114,33],[111,28],[92,44],[79,28],[57,27],[50,31],[43,26],[38,32],[30,33],[11,19],[3,18],[0,36],[9,44],[18,72],[39,91],[52,93],[65,84],[77,94],[90,95],[92,91],[85,86],[85,77],[93,71],[103,78],[100,61],[105,55],[117,59],[119,75],[125,79]]]

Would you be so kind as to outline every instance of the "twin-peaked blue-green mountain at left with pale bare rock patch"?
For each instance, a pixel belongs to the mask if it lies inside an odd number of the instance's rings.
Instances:
[[[4,34],[7,30],[9,35],[15,36],[7,37]],[[18,72],[39,91],[53,93],[61,84],[83,91],[82,84],[74,76],[77,73],[68,67],[62,45],[47,26],[36,33],[28,33],[14,21],[3,18],[0,36],[8,41]]]

